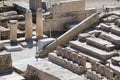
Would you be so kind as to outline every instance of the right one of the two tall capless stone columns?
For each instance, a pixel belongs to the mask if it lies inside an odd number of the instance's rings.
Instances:
[[[42,9],[39,8],[36,14],[36,36],[43,36],[43,17],[42,17]]]

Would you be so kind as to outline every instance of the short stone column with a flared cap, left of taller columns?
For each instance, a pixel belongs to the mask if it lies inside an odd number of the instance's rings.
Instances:
[[[11,41],[17,41],[17,20],[10,20],[10,40]]]

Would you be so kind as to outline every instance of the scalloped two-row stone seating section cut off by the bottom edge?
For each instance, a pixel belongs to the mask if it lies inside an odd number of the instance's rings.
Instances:
[[[88,78],[92,78],[93,80],[104,80],[103,78],[113,80],[114,73],[111,69],[98,62],[91,62],[91,65],[92,69],[88,70],[86,73]]]

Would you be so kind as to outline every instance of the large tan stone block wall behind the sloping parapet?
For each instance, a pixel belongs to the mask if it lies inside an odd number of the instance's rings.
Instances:
[[[64,31],[65,24],[71,22],[81,22],[88,16],[96,12],[96,9],[85,9],[84,0],[60,1],[50,9],[51,19],[46,19],[44,31]]]

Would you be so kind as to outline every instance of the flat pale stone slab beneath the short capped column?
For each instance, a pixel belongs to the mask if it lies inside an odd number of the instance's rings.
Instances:
[[[4,44],[4,48],[8,51],[8,52],[11,52],[11,51],[21,51],[23,50],[23,47],[18,44],[18,43],[5,43]]]

